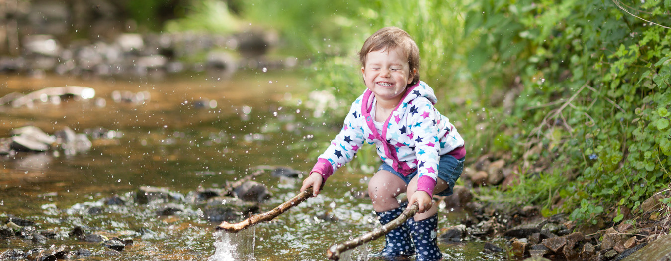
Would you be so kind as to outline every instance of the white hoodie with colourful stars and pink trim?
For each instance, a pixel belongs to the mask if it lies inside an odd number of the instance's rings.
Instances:
[[[317,159],[311,172],[318,172],[323,182],[341,166],[350,162],[364,142],[375,144],[380,158],[397,172],[407,176],[417,170],[417,191],[433,195],[437,183],[440,156],[455,158],[466,155],[464,140],[450,120],[433,105],[437,98],[423,81],[407,87],[382,132],[374,125],[371,110],[373,93],[366,89],[345,118],[344,127]]]

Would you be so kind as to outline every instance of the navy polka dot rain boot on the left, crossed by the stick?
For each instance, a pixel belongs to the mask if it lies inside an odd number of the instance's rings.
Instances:
[[[401,204],[401,207],[396,209],[384,212],[376,212],[378,219],[380,220],[380,224],[384,225],[399,217],[403,210],[405,210],[406,206],[407,203]],[[407,223],[404,223],[403,225],[386,233],[384,240],[384,248],[382,249],[382,252],[379,253],[381,256],[394,257],[410,256],[415,254],[412,241],[410,240],[410,231],[407,227]]]

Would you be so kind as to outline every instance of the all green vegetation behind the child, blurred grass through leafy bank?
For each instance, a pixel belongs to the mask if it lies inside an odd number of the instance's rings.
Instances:
[[[467,165],[486,156],[513,168],[511,185],[480,189],[480,200],[618,222],[671,180],[671,1],[192,0],[172,1],[164,23],[151,19],[164,1],[127,5],[147,30],[276,32],[273,52],[311,60],[315,91],[338,101],[317,120],[334,126],[363,91],[363,41],[406,30]],[[366,150],[355,165],[375,160]]]

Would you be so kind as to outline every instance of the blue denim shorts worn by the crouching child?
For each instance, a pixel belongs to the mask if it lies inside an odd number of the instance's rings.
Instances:
[[[456,182],[459,179],[462,170],[464,170],[464,160],[466,160],[466,157],[457,159],[454,158],[454,156],[448,154],[440,156],[440,162],[438,163],[438,178],[447,182],[448,188],[445,189],[444,191],[441,191],[440,193],[434,193],[434,195],[447,197],[452,195],[452,193],[454,193],[452,191],[452,189],[454,189],[454,182]],[[410,183],[410,180],[417,175],[417,170],[415,170],[412,173],[408,174],[407,176],[403,176],[403,174],[397,172],[396,170],[394,170],[394,168],[392,168],[391,166],[389,166],[389,164],[386,163],[382,163],[382,165],[380,165],[380,168],[378,168],[378,171],[379,170],[387,170],[389,172],[392,172],[393,174],[401,178],[401,180],[403,180],[403,182],[405,182],[406,185]]]

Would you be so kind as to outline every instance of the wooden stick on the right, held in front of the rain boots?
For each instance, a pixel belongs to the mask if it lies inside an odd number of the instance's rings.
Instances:
[[[419,209],[419,206],[417,205],[417,203],[413,203],[413,205],[407,207],[403,211],[403,213],[399,215],[399,217],[390,221],[389,223],[386,223],[381,227],[377,227],[376,229],[373,229],[373,231],[365,233],[363,236],[360,236],[358,238],[349,240],[348,242],[344,242],[342,244],[335,244],[331,246],[331,248],[329,248],[329,250],[326,252],[327,256],[329,257],[329,260],[340,260],[340,254],[342,254],[343,252],[350,250],[352,248],[356,248],[357,246],[361,246],[362,244],[375,240],[376,238],[380,238],[381,236],[384,236],[387,232],[389,232],[391,229],[395,229],[396,227],[403,225],[403,223],[405,223],[405,221],[409,217],[412,217],[413,215],[415,215],[415,213],[417,213],[417,209]]]

